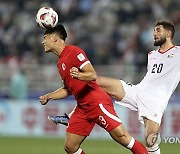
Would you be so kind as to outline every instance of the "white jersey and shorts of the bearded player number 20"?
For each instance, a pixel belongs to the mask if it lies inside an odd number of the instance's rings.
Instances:
[[[148,71],[137,85],[121,80],[126,92],[121,101],[115,103],[138,111],[143,117],[161,123],[169,98],[180,81],[180,47],[174,46],[164,53],[153,50],[148,54]]]

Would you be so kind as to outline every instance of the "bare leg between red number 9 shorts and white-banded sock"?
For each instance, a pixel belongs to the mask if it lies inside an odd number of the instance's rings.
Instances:
[[[123,146],[127,146],[132,138],[126,131],[123,124],[110,131],[109,134],[116,142],[122,144]]]

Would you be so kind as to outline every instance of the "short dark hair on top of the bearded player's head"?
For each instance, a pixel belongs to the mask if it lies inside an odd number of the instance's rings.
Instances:
[[[161,20],[161,21],[157,21],[156,22],[156,26],[162,25],[164,29],[171,31],[171,38],[174,37],[175,34],[175,28],[174,28],[174,24],[172,22],[169,21],[165,21],[165,20]]]

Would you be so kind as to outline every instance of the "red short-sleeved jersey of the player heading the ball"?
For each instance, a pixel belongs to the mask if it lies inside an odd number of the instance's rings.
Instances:
[[[110,100],[109,95],[103,91],[96,81],[82,81],[70,75],[70,69],[81,69],[90,63],[85,52],[72,45],[67,45],[59,56],[58,70],[64,82],[64,86],[75,96],[78,105],[96,103],[100,100]]]

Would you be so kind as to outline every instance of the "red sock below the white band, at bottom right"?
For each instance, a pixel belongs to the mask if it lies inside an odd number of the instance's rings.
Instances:
[[[135,140],[134,145],[131,148],[131,151],[134,154],[148,154],[147,149],[137,140]]]

